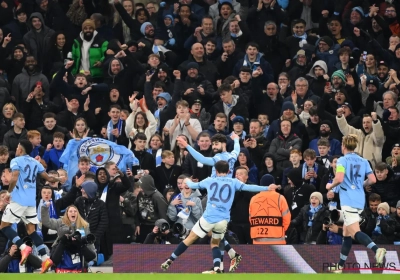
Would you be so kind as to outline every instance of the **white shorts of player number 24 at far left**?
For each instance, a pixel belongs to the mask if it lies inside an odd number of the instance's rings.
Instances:
[[[7,205],[1,220],[10,224],[19,223],[19,221],[23,221],[26,225],[39,224],[36,207],[22,206],[16,202],[11,202]]]

